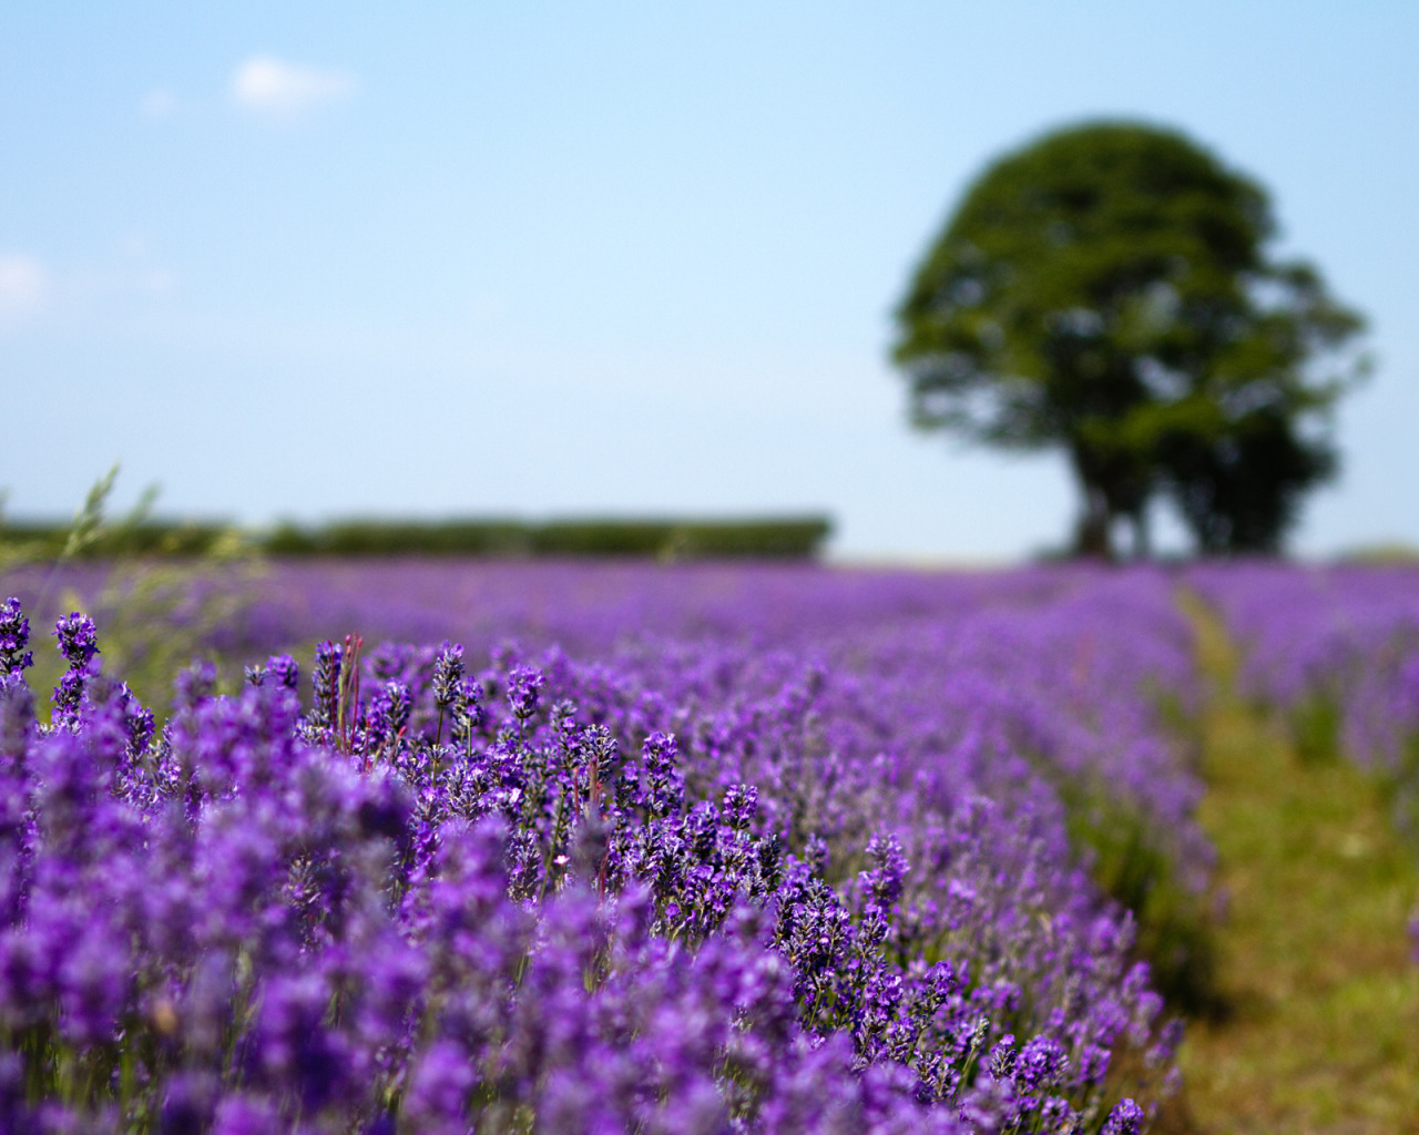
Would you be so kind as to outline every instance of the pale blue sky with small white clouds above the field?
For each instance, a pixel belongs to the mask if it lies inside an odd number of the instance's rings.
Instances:
[[[245,522],[829,511],[1064,539],[1056,455],[904,424],[891,309],[985,163],[1181,128],[1371,318],[1296,546],[1419,545],[1419,6],[0,10],[0,487]],[[1165,538],[1176,525],[1161,519]]]

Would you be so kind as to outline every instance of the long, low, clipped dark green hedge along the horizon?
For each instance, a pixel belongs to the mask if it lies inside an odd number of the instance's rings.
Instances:
[[[816,556],[832,531],[824,516],[744,521],[409,521],[350,519],[326,525],[282,524],[270,532],[237,532],[274,556],[643,556],[660,559]],[[200,556],[233,529],[220,524],[138,525],[102,531],[82,555]],[[67,525],[7,524],[0,545],[34,558],[60,555]]]

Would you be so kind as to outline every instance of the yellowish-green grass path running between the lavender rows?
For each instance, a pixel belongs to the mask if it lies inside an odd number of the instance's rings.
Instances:
[[[1206,702],[1200,821],[1218,848],[1226,1009],[1182,1050],[1196,1129],[1419,1132],[1419,966],[1406,921],[1412,847],[1375,783],[1341,759],[1303,760],[1235,690],[1236,651],[1186,597]]]

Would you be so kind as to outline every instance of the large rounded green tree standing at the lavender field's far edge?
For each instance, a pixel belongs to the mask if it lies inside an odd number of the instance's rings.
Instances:
[[[1359,316],[1270,255],[1266,193],[1188,138],[1059,131],[992,165],[897,316],[912,423],[1061,448],[1076,549],[1111,555],[1166,494],[1208,552],[1274,550],[1337,468],[1330,411]]]

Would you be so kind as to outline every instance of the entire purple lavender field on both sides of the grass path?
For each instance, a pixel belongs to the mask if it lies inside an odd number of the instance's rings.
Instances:
[[[1413,830],[1413,569],[105,573],[3,592],[3,1129],[1200,1129],[1199,604]]]

